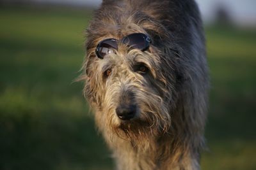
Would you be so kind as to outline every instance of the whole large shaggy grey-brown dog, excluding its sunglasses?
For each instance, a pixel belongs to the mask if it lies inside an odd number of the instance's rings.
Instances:
[[[103,39],[134,32],[150,36],[148,50],[121,45],[104,59],[95,55]],[[103,0],[87,33],[84,94],[117,169],[200,169],[208,76],[195,2]],[[141,63],[144,74],[134,69]],[[134,117],[118,118],[120,106],[132,106]]]

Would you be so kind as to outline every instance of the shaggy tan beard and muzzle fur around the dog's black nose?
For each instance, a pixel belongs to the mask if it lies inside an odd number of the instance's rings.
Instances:
[[[131,120],[120,120],[115,112],[116,105],[106,105],[104,109],[107,111],[106,117],[102,119],[102,124],[106,126],[102,130],[109,129],[108,133],[110,136],[115,135],[127,141],[152,139],[168,133],[171,120],[168,109],[165,107],[166,104],[161,103],[160,100],[156,101],[156,98],[154,100],[150,100],[149,97],[144,98],[147,101],[140,100],[140,102],[136,102],[138,110],[136,116]],[[112,99],[115,99],[115,97]],[[111,101],[110,103],[116,103],[116,101]]]

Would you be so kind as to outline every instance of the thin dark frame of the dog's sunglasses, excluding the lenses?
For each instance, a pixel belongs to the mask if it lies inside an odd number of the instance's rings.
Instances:
[[[141,51],[147,50],[147,48],[149,47],[150,43],[152,43],[150,37],[149,37],[147,34],[143,34],[143,33],[141,33],[141,32],[137,32],[137,33],[129,34],[129,35],[125,36],[124,38],[120,39],[120,40],[115,39],[115,38],[108,38],[108,39],[104,39],[104,40],[100,41],[99,44],[97,45],[96,49],[95,49],[95,53],[96,53],[97,57],[98,57],[99,59],[104,59],[104,57],[102,57],[102,56],[100,55],[100,52],[99,52],[100,50],[99,50],[99,48],[100,48],[100,46],[102,45],[102,43],[104,43],[105,41],[109,41],[109,40],[116,41],[117,48],[114,48],[114,49],[115,49],[115,50],[118,50],[118,43],[117,43],[118,41],[122,42],[123,44],[129,44],[129,43],[125,43],[125,40],[126,40],[127,38],[129,39],[129,36],[135,36],[135,35],[141,35],[141,36],[143,36],[143,38],[144,38],[144,40],[145,40],[145,42],[146,42],[144,48],[142,48],[142,49],[138,48],[138,49],[140,49]]]

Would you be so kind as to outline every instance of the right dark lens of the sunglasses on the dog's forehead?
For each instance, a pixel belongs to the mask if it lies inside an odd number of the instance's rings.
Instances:
[[[124,43],[131,46],[132,48],[145,50],[150,44],[150,39],[145,34],[134,33],[126,36],[124,38]]]

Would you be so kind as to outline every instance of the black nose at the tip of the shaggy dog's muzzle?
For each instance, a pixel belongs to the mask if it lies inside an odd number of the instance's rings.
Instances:
[[[116,108],[116,115],[118,118],[122,120],[130,120],[131,118],[134,118],[136,113],[136,106],[135,105],[120,105]]]

